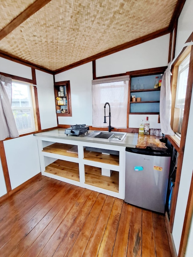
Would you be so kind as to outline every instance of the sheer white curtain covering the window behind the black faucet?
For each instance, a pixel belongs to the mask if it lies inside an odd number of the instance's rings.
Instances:
[[[111,107],[111,126],[127,128],[129,76],[120,76],[92,80],[93,127],[108,127],[109,117],[104,123],[104,105],[109,102]],[[106,116],[109,106],[106,105]]]

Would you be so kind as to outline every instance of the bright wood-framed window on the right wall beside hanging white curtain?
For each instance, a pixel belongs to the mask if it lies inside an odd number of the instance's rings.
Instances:
[[[173,131],[181,137],[190,54],[178,65]]]

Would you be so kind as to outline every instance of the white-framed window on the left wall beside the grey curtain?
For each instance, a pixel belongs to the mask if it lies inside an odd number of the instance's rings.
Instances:
[[[37,130],[33,102],[33,86],[28,83],[12,81],[11,108],[19,134]]]

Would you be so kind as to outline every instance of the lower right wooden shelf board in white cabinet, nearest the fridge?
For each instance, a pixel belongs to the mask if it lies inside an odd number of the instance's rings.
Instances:
[[[101,175],[101,168],[84,165],[85,184],[119,193],[119,172],[112,171],[110,177]]]

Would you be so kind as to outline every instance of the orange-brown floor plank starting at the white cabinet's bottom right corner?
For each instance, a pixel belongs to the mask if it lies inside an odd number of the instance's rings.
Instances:
[[[123,200],[115,199],[112,206],[110,217],[103,235],[103,240],[100,244],[99,252],[97,256],[109,257],[112,255],[113,246],[115,243],[115,237],[119,226],[119,219],[121,216]]]

